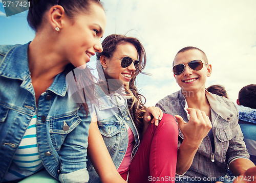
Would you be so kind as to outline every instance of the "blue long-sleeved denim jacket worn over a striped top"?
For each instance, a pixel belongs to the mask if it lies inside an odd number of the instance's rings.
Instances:
[[[0,182],[35,113],[37,147],[46,170],[61,182],[87,182],[91,117],[69,100],[63,72],[40,95],[36,107],[28,45],[0,45]]]

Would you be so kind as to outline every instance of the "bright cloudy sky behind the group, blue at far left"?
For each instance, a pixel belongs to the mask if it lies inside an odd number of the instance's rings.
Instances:
[[[113,33],[135,36],[146,49],[144,71],[152,76],[138,76],[137,86],[146,97],[147,106],[179,90],[172,62],[185,46],[204,50],[212,65],[206,87],[224,85],[232,101],[236,101],[243,86],[256,84],[255,0],[102,2],[107,17],[104,37]],[[26,14],[6,17],[0,4],[0,44],[23,44],[33,39]],[[94,67],[95,63],[94,57],[90,65]]]

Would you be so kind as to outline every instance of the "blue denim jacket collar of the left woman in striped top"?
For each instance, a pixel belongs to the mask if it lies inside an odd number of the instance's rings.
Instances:
[[[13,47],[6,53],[3,64],[0,67],[0,74],[10,79],[23,81],[22,85],[29,85],[30,71],[28,65],[28,46],[30,42],[24,45]],[[52,85],[47,89],[53,93],[65,96],[67,85],[65,74],[63,72],[56,75]]]

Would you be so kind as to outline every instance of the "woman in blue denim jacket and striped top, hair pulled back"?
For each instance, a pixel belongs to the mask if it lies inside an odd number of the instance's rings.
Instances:
[[[87,182],[91,116],[84,98],[70,100],[66,76],[102,51],[105,13],[98,0],[38,0],[30,6],[35,38],[0,46],[0,182],[43,169],[61,182]],[[77,84],[84,82],[74,76]]]

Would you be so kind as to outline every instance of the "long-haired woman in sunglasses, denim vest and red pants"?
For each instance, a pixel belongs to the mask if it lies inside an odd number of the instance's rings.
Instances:
[[[99,106],[94,106],[88,138],[89,182],[174,182],[177,123],[157,107],[146,108],[135,86],[146,64],[144,47],[117,34],[106,37],[102,47],[97,53]]]

